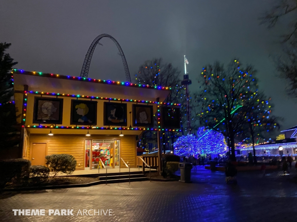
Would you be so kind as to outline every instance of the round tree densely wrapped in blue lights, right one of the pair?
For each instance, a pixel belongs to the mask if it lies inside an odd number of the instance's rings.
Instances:
[[[197,142],[199,153],[225,154],[228,151],[225,136],[205,127],[198,128]]]

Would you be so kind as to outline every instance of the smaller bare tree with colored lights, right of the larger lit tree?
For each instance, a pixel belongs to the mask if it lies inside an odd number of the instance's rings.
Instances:
[[[268,133],[271,133],[275,128],[279,129],[279,118],[271,115],[273,104],[270,100],[271,98],[267,99],[263,92],[256,91],[256,94],[252,95],[245,106],[242,107],[245,112],[245,122],[241,127],[242,134],[245,137],[243,141],[246,143],[252,142],[254,163],[257,163],[255,139],[265,141]]]

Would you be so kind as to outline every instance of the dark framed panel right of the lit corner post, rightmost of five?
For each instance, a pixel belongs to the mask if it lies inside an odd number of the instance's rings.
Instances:
[[[162,107],[162,123],[164,128],[180,128],[181,114],[177,107]]]

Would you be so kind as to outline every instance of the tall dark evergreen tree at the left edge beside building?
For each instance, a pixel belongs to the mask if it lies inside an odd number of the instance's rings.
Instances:
[[[9,148],[18,144],[16,137],[15,105],[11,101],[13,96],[13,80],[11,69],[17,62],[13,62],[6,50],[9,43],[0,43],[0,147]]]

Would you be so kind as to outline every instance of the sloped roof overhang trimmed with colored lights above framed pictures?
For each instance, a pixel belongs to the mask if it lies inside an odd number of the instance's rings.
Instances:
[[[15,91],[23,91],[24,85],[29,86],[29,93],[49,96],[84,97],[89,99],[104,99],[108,101],[164,103],[169,90],[155,89],[153,86],[130,84],[121,82],[85,79],[80,77],[60,76],[58,74],[35,73],[21,70],[13,71]],[[58,76],[57,76],[58,75]],[[101,83],[103,82],[103,83]],[[99,84],[98,84],[99,83]],[[163,87],[162,87],[163,88]],[[170,89],[170,88],[168,88]],[[159,98],[159,101],[156,101]]]

